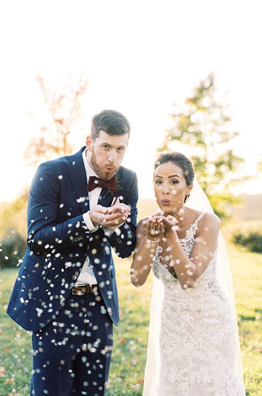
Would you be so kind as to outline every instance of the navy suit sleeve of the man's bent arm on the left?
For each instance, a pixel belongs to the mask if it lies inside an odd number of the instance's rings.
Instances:
[[[41,164],[34,176],[28,200],[27,245],[33,253],[55,253],[62,247],[87,243],[91,233],[83,214],[57,223],[60,185],[51,165]]]

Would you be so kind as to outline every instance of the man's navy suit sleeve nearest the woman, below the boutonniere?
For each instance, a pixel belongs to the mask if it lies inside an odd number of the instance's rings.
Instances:
[[[107,236],[110,245],[114,248],[117,255],[122,258],[129,257],[135,247],[137,200],[137,176],[134,173],[130,191],[127,194],[127,198],[124,202],[126,205],[130,206],[131,215],[126,223],[124,223],[121,227],[116,228],[112,235]]]

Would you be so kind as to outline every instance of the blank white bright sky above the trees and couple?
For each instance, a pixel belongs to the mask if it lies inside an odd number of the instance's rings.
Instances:
[[[47,85],[71,72],[88,77],[82,113],[105,108],[131,122],[123,165],[137,172],[141,198],[152,198],[152,165],[172,103],[182,103],[200,78],[214,71],[229,91],[232,144],[256,173],[262,147],[260,1],[12,1],[0,5],[0,200],[14,198],[35,169],[23,159],[43,121],[36,71]],[[27,115],[32,111],[36,118]],[[76,151],[84,145],[76,132]],[[262,192],[262,178],[236,193]]]

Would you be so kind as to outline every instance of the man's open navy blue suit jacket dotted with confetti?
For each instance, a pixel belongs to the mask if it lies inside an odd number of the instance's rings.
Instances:
[[[114,195],[131,207],[129,221],[108,237],[101,226],[90,232],[83,220],[83,213],[89,210],[84,149],[41,164],[31,185],[28,248],[7,307],[8,315],[26,330],[37,331],[55,319],[72,292],[87,254],[106,309],[113,322],[119,322],[111,247],[122,258],[134,250],[137,177],[123,166],[117,172],[119,186]],[[102,188],[98,204],[109,206],[112,199],[112,194]]]

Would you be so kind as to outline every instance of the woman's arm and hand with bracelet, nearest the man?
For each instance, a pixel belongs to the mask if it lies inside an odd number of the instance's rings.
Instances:
[[[157,231],[156,235],[152,235]],[[164,234],[162,221],[142,219],[136,228],[136,246],[131,264],[131,282],[134,286],[142,286],[148,278],[158,242]],[[147,239],[146,239],[146,238]],[[151,241],[151,242],[150,242]]]

